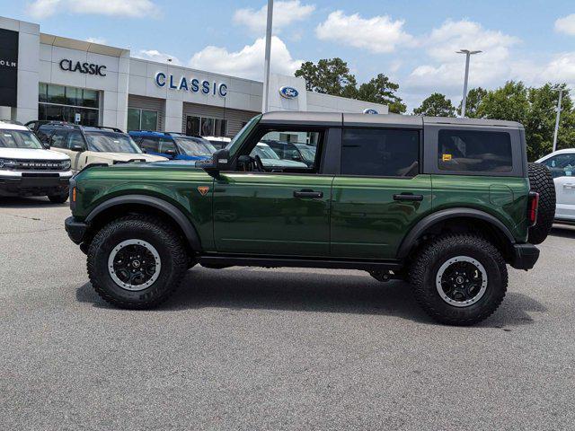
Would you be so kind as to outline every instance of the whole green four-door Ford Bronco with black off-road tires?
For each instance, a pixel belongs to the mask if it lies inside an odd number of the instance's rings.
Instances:
[[[93,165],[70,186],[66,231],[119,307],[162,303],[197,264],[352,268],[456,325],[497,309],[508,264],[533,268],[555,207],[520,124],[396,115],[270,112],[212,160]]]

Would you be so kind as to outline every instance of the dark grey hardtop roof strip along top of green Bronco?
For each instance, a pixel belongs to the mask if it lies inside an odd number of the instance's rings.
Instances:
[[[263,124],[293,124],[351,127],[423,128],[424,124],[453,126],[523,128],[516,121],[500,119],[453,119],[399,114],[350,114],[342,112],[273,111],[261,116]]]

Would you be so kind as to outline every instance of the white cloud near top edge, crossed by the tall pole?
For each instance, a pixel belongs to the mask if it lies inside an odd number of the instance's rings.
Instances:
[[[299,0],[276,2],[273,6],[273,30],[275,32],[288,27],[296,21],[305,20],[315,10],[313,4],[301,4]],[[261,34],[266,31],[268,19],[268,6],[262,6],[259,10],[250,8],[238,9],[234,13],[234,22],[245,25],[250,31]]]

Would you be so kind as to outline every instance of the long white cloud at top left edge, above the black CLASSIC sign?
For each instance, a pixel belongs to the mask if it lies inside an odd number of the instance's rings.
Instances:
[[[57,13],[89,13],[130,18],[154,16],[157,6],[151,0],[35,0],[28,13],[36,19]]]

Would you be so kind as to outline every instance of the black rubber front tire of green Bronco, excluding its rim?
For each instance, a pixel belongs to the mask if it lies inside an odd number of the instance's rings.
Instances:
[[[162,262],[155,282],[140,291],[120,287],[108,270],[111,251],[130,239],[149,242]],[[88,277],[94,290],[104,301],[128,309],[153,308],[163,303],[180,286],[188,262],[181,237],[153,216],[125,216],[106,224],[93,237],[87,253]]]

